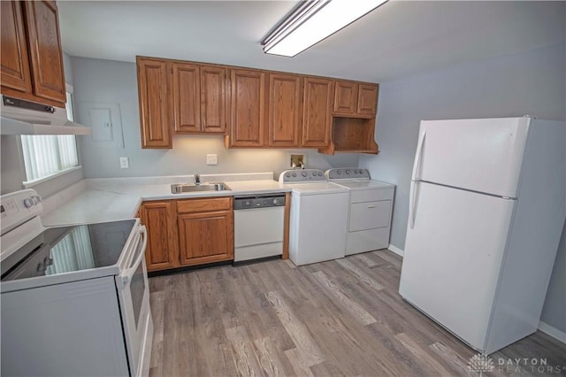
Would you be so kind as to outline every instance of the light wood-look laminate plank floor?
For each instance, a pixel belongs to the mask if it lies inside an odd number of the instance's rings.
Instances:
[[[399,296],[401,262],[378,250],[150,278],[149,375],[478,376],[468,367],[476,352]],[[566,347],[540,332],[491,358],[483,375],[566,373]],[[544,373],[532,365],[540,358]]]

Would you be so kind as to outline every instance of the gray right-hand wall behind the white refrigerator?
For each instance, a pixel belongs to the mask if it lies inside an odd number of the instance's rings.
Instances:
[[[397,185],[391,243],[403,249],[409,213],[409,181],[421,119],[511,117],[530,114],[566,119],[563,43],[381,82],[376,140],[381,152],[363,156],[372,177]],[[562,242],[542,319],[566,331],[566,247]]]

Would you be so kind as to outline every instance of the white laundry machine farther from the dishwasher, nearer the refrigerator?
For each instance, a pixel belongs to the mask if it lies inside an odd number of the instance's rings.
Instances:
[[[350,193],[345,254],[389,247],[395,186],[371,180],[370,172],[358,167],[329,169],[325,176]]]

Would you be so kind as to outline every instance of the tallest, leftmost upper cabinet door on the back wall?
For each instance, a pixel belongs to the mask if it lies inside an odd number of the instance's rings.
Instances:
[[[137,65],[142,148],[172,148],[167,63],[138,58]]]

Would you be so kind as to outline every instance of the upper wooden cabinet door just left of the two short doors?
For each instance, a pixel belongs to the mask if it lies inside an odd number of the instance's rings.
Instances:
[[[333,81],[304,79],[302,104],[302,146],[325,147],[330,142],[332,126]]]

